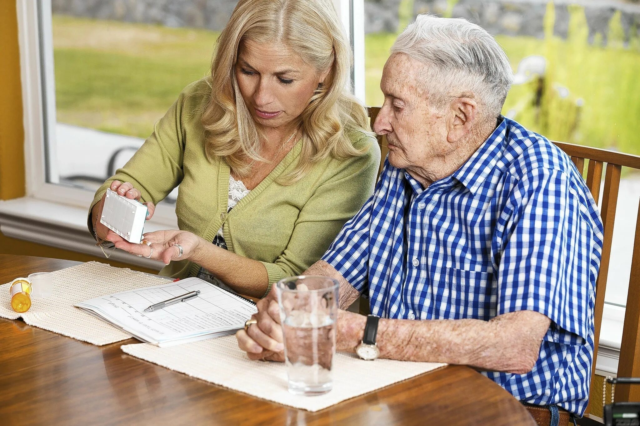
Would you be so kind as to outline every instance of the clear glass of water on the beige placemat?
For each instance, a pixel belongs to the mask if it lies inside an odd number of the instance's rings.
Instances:
[[[276,284],[289,392],[322,395],[333,388],[338,282],[300,276]]]

